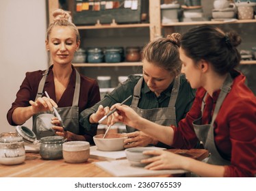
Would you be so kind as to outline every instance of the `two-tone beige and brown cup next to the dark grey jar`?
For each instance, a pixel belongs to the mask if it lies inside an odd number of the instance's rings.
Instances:
[[[63,143],[62,152],[65,162],[86,162],[90,156],[90,143],[87,141],[69,141]]]

